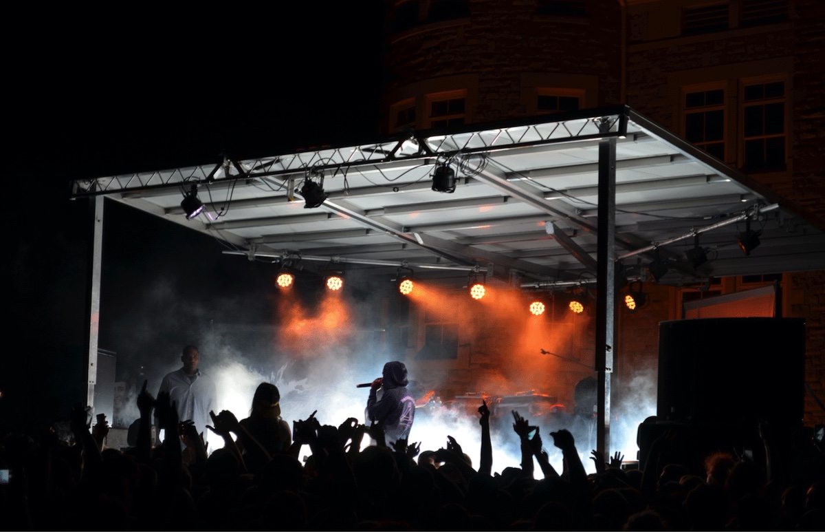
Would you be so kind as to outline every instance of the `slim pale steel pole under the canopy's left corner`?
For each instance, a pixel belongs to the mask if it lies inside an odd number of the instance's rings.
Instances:
[[[101,261],[103,259],[103,196],[92,199],[92,246],[89,250],[89,302],[87,335],[87,406],[95,406],[97,383],[97,334],[101,311]]]

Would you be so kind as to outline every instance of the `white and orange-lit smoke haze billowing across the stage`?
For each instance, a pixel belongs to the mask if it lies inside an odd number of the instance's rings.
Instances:
[[[257,385],[266,381],[279,388],[282,417],[290,425],[316,410],[322,425],[337,426],[350,417],[364,423],[369,389],[356,388],[356,383],[380,377],[384,363],[398,359],[407,364],[419,397],[427,390],[436,392],[431,403],[417,411],[410,441],[420,442],[422,450],[435,450],[446,447],[451,435],[478,467],[476,409],[482,394],[502,397],[535,391],[572,412],[573,387],[594,375],[592,340],[586,333],[591,318],[559,320],[563,316],[550,302],[546,314],[551,316],[530,316],[529,301],[514,289],[488,287],[487,295],[475,302],[465,289],[417,282],[411,294],[407,344],[397,348],[388,326],[394,324],[387,318],[395,311],[388,309],[387,299],[398,295],[389,292],[392,287],[375,287],[380,279],[351,275],[341,293],[299,294],[276,292],[271,273],[266,273],[270,279],[266,292],[224,295],[200,306],[173,296],[176,279],[156,276],[125,312],[124,321],[109,324],[111,330],[122,332],[110,333],[115,345],[105,347],[119,353],[117,380],[125,382],[126,389],[124,425],[137,419],[135,397],[143,379],[156,393],[163,375],[181,367],[181,349],[188,343],[198,345],[200,368],[215,381],[216,413],[229,410],[238,419],[247,417]],[[257,300],[249,302],[254,297]],[[159,327],[158,316],[178,316],[180,321]],[[425,340],[425,330],[417,324],[425,321],[460,323],[458,359],[417,357]],[[118,340],[126,343],[118,345]],[[565,359],[541,354],[542,349]],[[655,378],[655,371],[634,376],[622,387],[624,402],[612,405],[610,447],[625,454],[626,461],[636,458],[639,423],[655,414]],[[467,393],[478,394],[478,399],[454,400],[455,395]],[[540,425],[544,449],[560,472],[561,456],[549,435],[559,427],[548,416],[520,413]],[[521,453],[509,409],[496,416],[493,471],[500,473],[503,468],[519,467]],[[574,432],[574,436],[582,463],[593,471],[589,435],[582,439]],[[223,444],[213,434],[206,437],[210,450]],[[306,447],[302,451],[304,456],[309,453]]]

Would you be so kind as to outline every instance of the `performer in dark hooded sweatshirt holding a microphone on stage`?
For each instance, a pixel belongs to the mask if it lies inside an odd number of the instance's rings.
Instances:
[[[370,398],[366,401],[366,417],[384,427],[388,447],[396,440],[408,438],[415,417],[415,397],[407,390],[407,367],[403,362],[384,364],[382,378],[370,385]],[[382,388],[381,399],[378,389]]]

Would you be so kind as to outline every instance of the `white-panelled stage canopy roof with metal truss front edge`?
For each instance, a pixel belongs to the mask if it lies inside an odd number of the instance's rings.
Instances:
[[[615,160],[600,150],[610,139]],[[815,217],[624,106],[83,179],[73,197],[110,197],[214,235],[239,260],[475,271],[554,290],[596,283],[600,174],[613,164],[616,271],[631,281],[825,269]],[[434,174],[455,191],[433,190]],[[319,207],[306,207],[309,181],[327,196]],[[187,219],[193,185],[205,211]],[[747,230],[759,241],[749,254],[737,241]],[[707,260],[695,265],[685,253],[697,246]],[[657,259],[666,272],[648,268]]]

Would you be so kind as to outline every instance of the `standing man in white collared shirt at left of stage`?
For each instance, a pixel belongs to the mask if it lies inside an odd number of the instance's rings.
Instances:
[[[217,391],[214,381],[198,369],[200,355],[195,345],[187,345],[181,355],[183,367],[167,373],[160,383],[160,392],[168,392],[169,399],[177,405],[177,418],[180,421],[192,420],[198,434],[206,437],[206,425],[211,422],[210,411],[214,409]],[[158,444],[160,430],[158,418],[155,417]],[[181,446],[183,442],[181,441]]]

